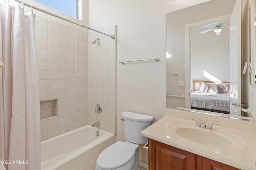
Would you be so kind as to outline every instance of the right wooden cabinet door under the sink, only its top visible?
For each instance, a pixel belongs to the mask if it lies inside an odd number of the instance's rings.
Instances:
[[[215,160],[211,160],[208,158],[203,158],[203,164],[204,164],[204,170],[239,170],[237,168],[234,168],[232,166],[222,164],[220,162],[217,162]]]

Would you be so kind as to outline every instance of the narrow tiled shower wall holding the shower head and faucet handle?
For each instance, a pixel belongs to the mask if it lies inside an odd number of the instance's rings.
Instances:
[[[100,31],[116,36],[115,25]],[[89,33],[88,56],[88,123],[100,121],[99,128],[116,134],[116,39]],[[100,114],[94,113],[97,103],[102,105]]]

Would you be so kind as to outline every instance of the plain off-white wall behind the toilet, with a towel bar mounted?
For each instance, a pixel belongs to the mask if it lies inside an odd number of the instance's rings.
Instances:
[[[166,107],[166,13],[207,0],[89,0],[89,26],[117,25],[117,140],[125,140],[121,112],[163,116]],[[160,61],[118,63],[160,57]],[[141,151],[144,162],[147,152]]]

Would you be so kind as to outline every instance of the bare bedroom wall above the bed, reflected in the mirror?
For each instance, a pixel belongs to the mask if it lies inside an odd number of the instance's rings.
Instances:
[[[190,78],[229,81],[229,27],[223,28],[219,36],[213,31],[200,33],[207,29],[198,27],[190,30]]]

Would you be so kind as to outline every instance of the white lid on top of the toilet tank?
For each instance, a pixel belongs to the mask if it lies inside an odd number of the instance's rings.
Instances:
[[[137,121],[137,122],[150,122],[153,120],[153,117],[150,115],[143,115],[143,114],[133,113],[128,111],[122,112],[121,115],[124,119]]]

